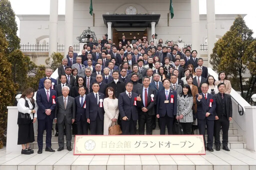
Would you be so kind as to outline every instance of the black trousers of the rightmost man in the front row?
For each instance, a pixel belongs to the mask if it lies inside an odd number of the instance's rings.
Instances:
[[[220,128],[222,127],[222,145],[223,147],[227,147],[228,143],[228,129],[229,129],[229,121],[226,116],[218,117],[218,120],[214,121],[214,142],[216,146],[220,146]]]

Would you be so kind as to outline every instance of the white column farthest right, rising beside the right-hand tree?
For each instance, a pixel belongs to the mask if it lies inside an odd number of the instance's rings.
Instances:
[[[216,42],[216,30],[215,30],[215,0],[206,1],[207,10],[207,45],[208,45],[208,67],[210,66],[210,54],[212,48]]]

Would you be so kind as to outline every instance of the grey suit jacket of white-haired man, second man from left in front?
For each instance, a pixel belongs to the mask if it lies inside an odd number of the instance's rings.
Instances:
[[[59,96],[56,102],[55,118],[57,118],[57,123],[62,123],[64,117],[68,124],[72,124],[72,119],[75,118],[75,102],[71,96],[67,97],[66,109],[64,107],[63,96]]]

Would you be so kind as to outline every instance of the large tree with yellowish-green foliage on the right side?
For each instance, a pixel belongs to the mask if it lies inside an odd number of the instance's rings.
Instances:
[[[225,71],[234,84],[239,87],[241,96],[249,101],[251,93],[244,95],[244,91],[252,91],[255,85],[255,39],[252,37],[252,30],[247,27],[243,18],[238,15],[230,30],[220,38],[212,49],[210,64],[214,70]],[[254,50],[254,53],[253,53]],[[254,57],[253,57],[254,56]],[[244,83],[244,74],[249,70],[251,77]],[[254,84],[253,84],[254,82]]]

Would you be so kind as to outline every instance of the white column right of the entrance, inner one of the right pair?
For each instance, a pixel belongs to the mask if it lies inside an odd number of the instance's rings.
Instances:
[[[191,0],[191,34],[192,34],[192,50],[196,50],[197,57],[200,57],[199,0]]]

